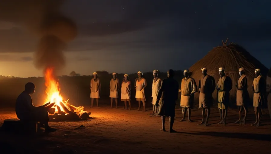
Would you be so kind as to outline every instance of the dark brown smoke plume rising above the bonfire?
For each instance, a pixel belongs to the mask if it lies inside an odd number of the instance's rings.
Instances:
[[[0,20],[26,26],[40,38],[34,54],[38,69],[61,69],[63,50],[77,35],[76,24],[60,12],[64,0],[1,0]]]

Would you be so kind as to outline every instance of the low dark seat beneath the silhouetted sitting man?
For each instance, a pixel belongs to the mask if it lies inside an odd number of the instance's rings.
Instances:
[[[39,122],[21,121],[19,119],[6,119],[0,131],[15,134],[35,134],[39,131]]]

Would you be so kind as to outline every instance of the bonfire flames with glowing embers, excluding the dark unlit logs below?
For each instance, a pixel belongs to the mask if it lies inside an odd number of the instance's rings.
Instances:
[[[48,102],[55,103],[55,105],[52,107],[52,109],[54,109],[54,114],[64,112],[65,115],[75,113],[78,116],[81,116],[84,112],[86,112],[84,111],[84,107],[69,105],[67,103],[69,99],[67,101],[63,99],[63,97],[60,95],[59,83],[54,79],[53,71],[53,68],[47,68],[45,72],[45,85],[47,87],[45,92],[47,94],[47,98],[45,99],[44,104]]]

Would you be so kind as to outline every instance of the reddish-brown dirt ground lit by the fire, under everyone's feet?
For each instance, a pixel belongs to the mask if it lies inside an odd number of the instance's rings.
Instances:
[[[88,108],[87,108],[88,109]],[[179,122],[181,109],[176,109],[174,129],[178,133],[161,132],[161,118],[147,112],[108,109],[108,106],[88,109],[93,119],[82,122],[50,122],[57,132],[38,137],[19,137],[1,133],[0,145],[4,153],[270,153],[271,125],[269,115],[263,115],[262,126],[249,112],[247,125],[233,124],[239,117],[230,110],[227,125],[217,125],[217,108],[211,111],[209,127],[197,125],[201,110],[192,111],[189,123]],[[14,109],[0,110],[0,125],[4,119],[16,118]],[[78,128],[80,125],[85,128]],[[78,129],[75,129],[78,128]],[[166,119],[166,130],[169,129]],[[15,151],[14,151],[15,150]],[[1,152],[1,153],[2,153]]]

